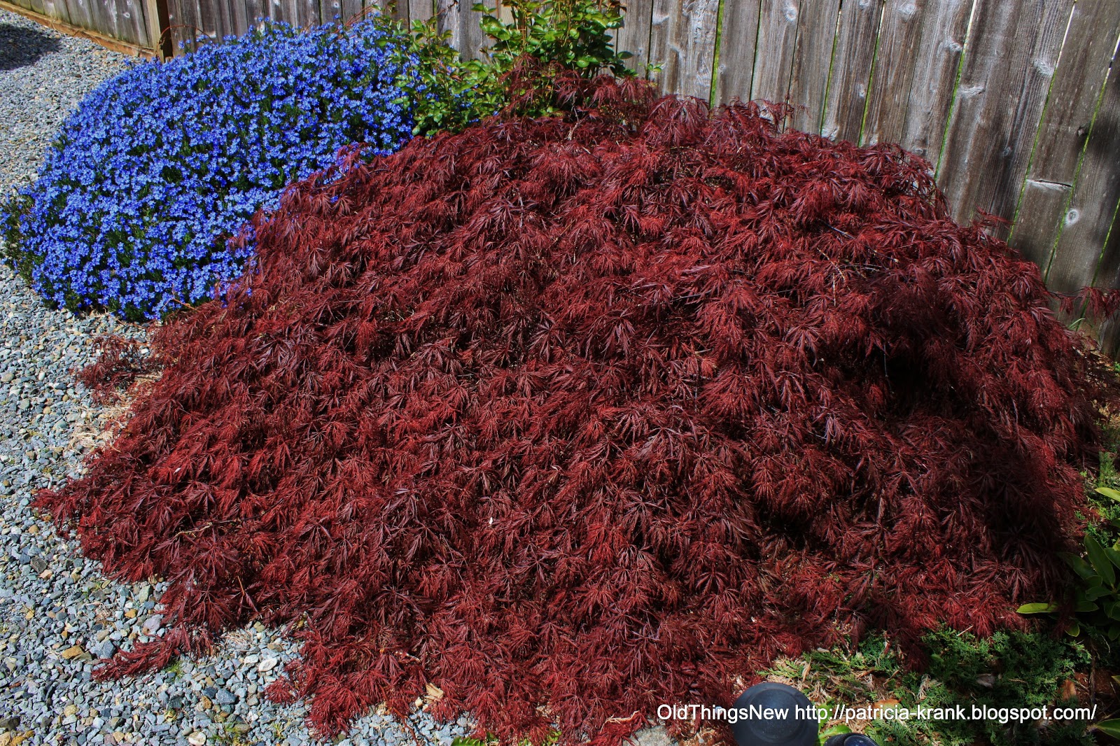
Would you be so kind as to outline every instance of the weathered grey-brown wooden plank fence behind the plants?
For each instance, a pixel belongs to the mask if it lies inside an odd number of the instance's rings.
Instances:
[[[370,4],[436,15],[465,55],[484,44],[472,0],[16,2],[149,47],[157,28],[177,47],[258,18],[302,26]],[[1120,0],[624,2],[616,44],[663,91],[788,101],[790,127],[899,142],[930,161],[958,220],[1011,222],[1004,233],[1053,289],[1120,287]],[[1114,348],[1120,329],[1105,336]]]

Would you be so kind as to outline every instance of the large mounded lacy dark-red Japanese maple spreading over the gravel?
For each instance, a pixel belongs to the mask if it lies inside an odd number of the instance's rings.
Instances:
[[[1094,442],[1038,271],[925,162],[598,81],[291,187],[39,504],[171,630],[304,619],[326,731],[426,682],[503,737],[617,739],[775,655],[1017,624]]]

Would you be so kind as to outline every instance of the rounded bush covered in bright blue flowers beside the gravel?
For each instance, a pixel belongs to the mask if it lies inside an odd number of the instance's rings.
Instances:
[[[411,136],[414,59],[388,28],[264,24],[101,85],[6,208],[8,260],[73,310],[139,320],[212,298],[252,252],[228,239],[286,184]]]

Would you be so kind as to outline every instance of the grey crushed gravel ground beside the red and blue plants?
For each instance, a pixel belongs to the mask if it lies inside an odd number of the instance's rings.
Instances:
[[[35,175],[44,149],[85,93],[128,60],[0,10],[0,196]],[[0,746],[16,744],[315,743],[304,706],[264,687],[295,655],[277,631],[230,633],[213,656],[153,675],[95,682],[101,658],[162,634],[159,582],[122,585],[86,561],[28,505],[36,489],[77,473],[113,412],[76,388],[73,370],[103,334],[140,336],[112,317],[47,309],[0,268]],[[421,743],[448,746],[467,720],[410,718]],[[342,744],[417,743],[372,712]]]

